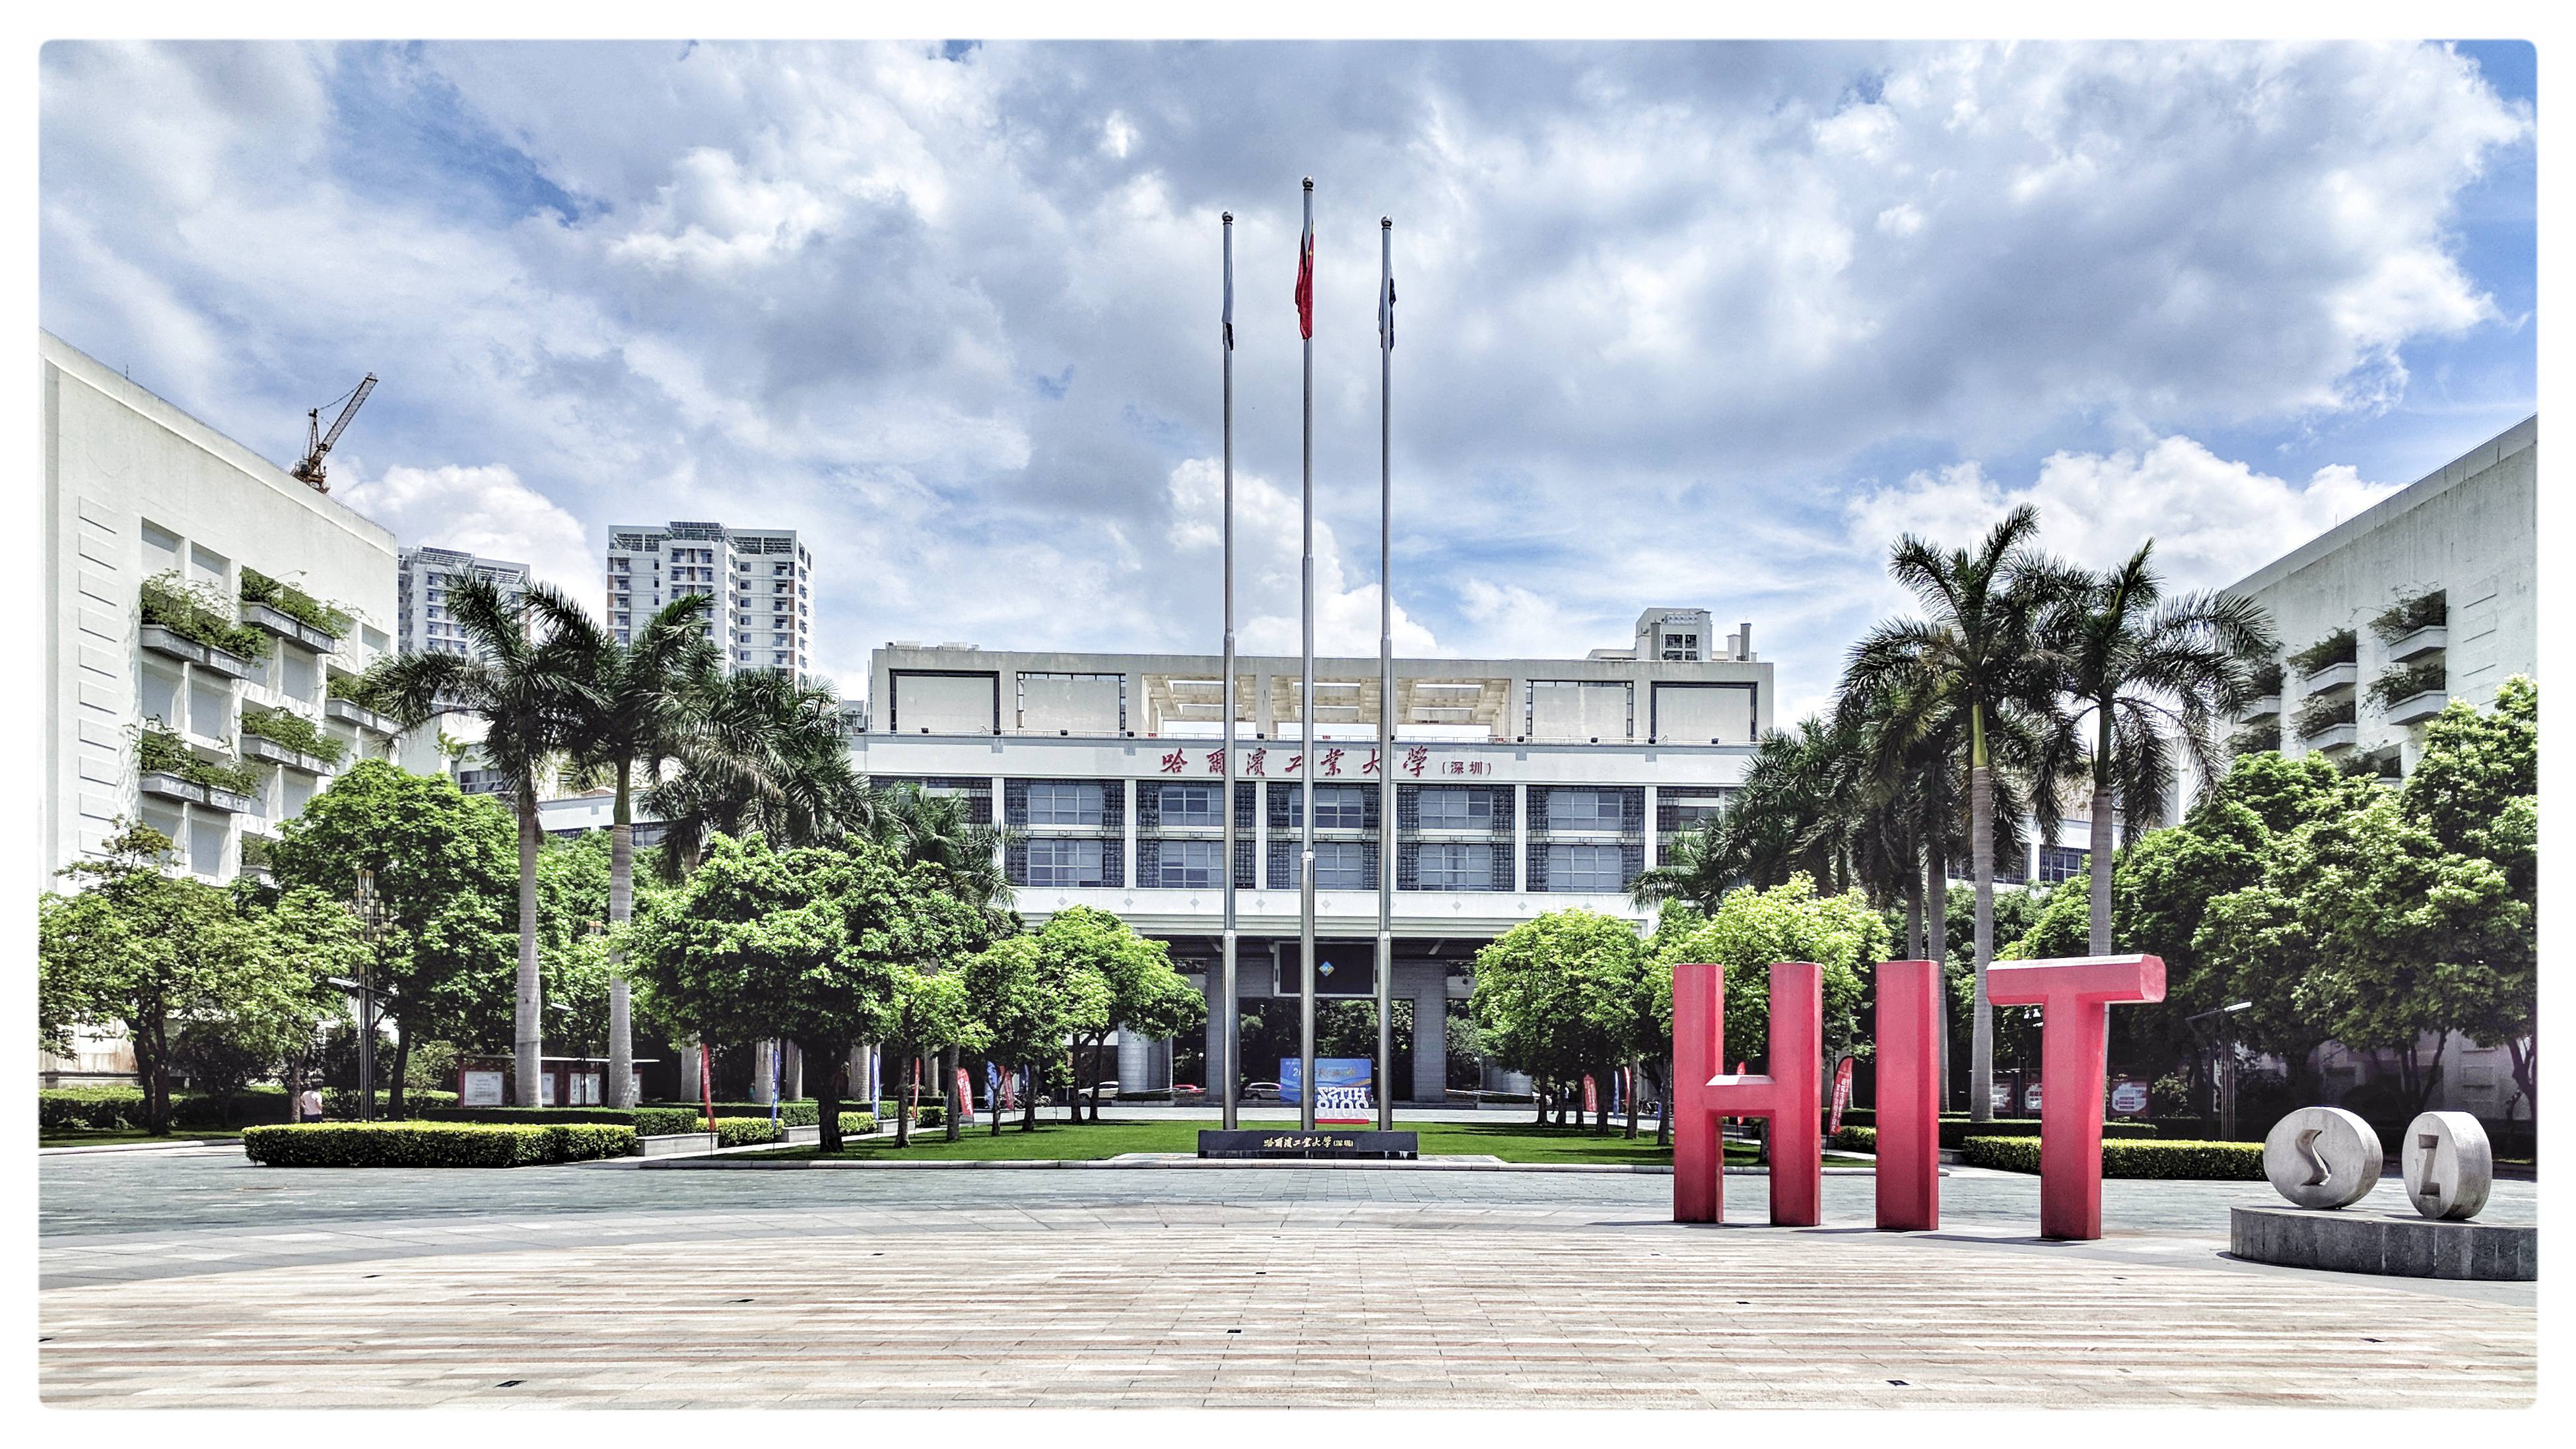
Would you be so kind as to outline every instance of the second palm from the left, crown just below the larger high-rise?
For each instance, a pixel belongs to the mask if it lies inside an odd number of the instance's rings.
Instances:
[[[608,826],[608,924],[623,927],[634,916],[634,777],[641,767],[647,777],[659,775],[662,762],[680,746],[693,726],[690,705],[698,695],[688,690],[693,677],[721,667],[721,654],[708,641],[703,615],[706,595],[683,595],[644,620],[631,641],[618,641],[605,628],[582,615],[582,649],[587,677],[582,679],[582,721],[577,726],[574,764],[608,770],[616,780],[616,808]],[[608,1104],[634,1107],[634,1019],[629,1011],[623,965],[626,950],[608,955]]]

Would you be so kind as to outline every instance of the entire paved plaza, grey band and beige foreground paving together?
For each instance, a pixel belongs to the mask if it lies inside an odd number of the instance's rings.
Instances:
[[[52,1405],[2522,1405],[2535,1284],[2223,1256],[2264,1184],[1953,1168],[1942,1233],[1582,1171],[41,1166]],[[1762,1176],[1728,1176],[1759,1220]],[[2380,1202],[2388,1199],[2388,1202]],[[2385,1181],[2370,1207],[2403,1207]],[[2535,1184],[2488,1217],[2530,1223]]]

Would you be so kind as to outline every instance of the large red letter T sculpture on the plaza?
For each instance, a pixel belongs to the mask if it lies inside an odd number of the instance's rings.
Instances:
[[[2099,1238],[2110,1004],[2164,1001],[2164,960],[2079,955],[1996,963],[1986,970],[1986,1001],[2040,1009],[2040,1238]]]

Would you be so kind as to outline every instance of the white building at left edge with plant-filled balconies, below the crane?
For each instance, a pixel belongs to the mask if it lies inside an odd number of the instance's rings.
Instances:
[[[39,888],[64,888],[57,872],[100,857],[118,821],[167,834],[191,875],[232,880],[258,870],[278,821],[332,775],[397,752],[394,723],[340,695],[392,646],[394,535],[52,332],[36,353]],[[270,587],[260,579],[345,615],[345,628],[247,600],[245,584]],[[175,597],[204,613],[180,620]],[[337,759],[312,746],[317,736]],[[121,1045],[93,1048],[41,1071],[131,1071]]]

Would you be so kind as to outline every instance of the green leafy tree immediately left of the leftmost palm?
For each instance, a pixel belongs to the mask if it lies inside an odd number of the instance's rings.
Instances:
[[[376,991],[394,1022],[386,1109],[402,1112],[412,1042],[510,1042],[510,813],[446,775],[361,759],[278,826],[268,872],[289,891],[348,901],[376,875],[384,932]],[[526,1089],[520,1091],[526,1096]]]

